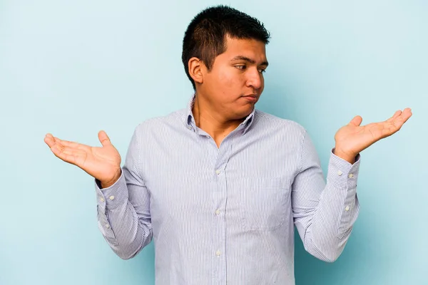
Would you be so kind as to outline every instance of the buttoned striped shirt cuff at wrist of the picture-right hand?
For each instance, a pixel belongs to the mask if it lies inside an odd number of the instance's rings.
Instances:
[[[327,180],[340,188],[355,189],[357,187],[358,172],[360,171],[360,154],[355,157],[354,164],[338,157],[330,155]]]

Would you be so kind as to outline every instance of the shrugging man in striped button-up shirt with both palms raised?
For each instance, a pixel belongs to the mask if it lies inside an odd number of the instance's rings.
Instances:
[[[294,226],[307,252],[335,261],[358,215],[359,153],[397,132],[357,116],[335,135],[325,182],[304,128],[255,110],[267,68],[263,24],[227,6],[185,31],[188,108],[137,126],[121,157],[46,135],[54,155],[96,179],[98,227],[130,259],[151,239],[156,284],[294,284]]]

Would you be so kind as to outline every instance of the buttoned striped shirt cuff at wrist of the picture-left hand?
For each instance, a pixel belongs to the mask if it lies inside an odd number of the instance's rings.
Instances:
[[[128,187],[123,175],[110,187],[101,189],[101,182],[95,180],[98,209],[104,212],[106,209],[114,209],[121,204],[128,202]]]

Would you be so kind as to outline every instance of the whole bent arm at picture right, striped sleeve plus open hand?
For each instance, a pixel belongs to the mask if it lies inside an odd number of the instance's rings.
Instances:
[[[300,172],[292,185],[292,209],[307,252],[325,261],[335,261],[340,256],[358,216],[359,153],[397,133],[411,116],[412,111],[406,108],[384,122],[364,126],[362,118],[356,116],[340,128],[335,135],[336,155],[330,157],[327,184],[315,147],[305,133]]]

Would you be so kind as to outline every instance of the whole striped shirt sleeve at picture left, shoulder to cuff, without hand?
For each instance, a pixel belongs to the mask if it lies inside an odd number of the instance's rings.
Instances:
[[[139,167],[142,157],[137,130],[131,138],[121,177],[103,189],[95,180],[98,228],[113,252],[122,259],[135,257],[153,236],[150,193]]]

